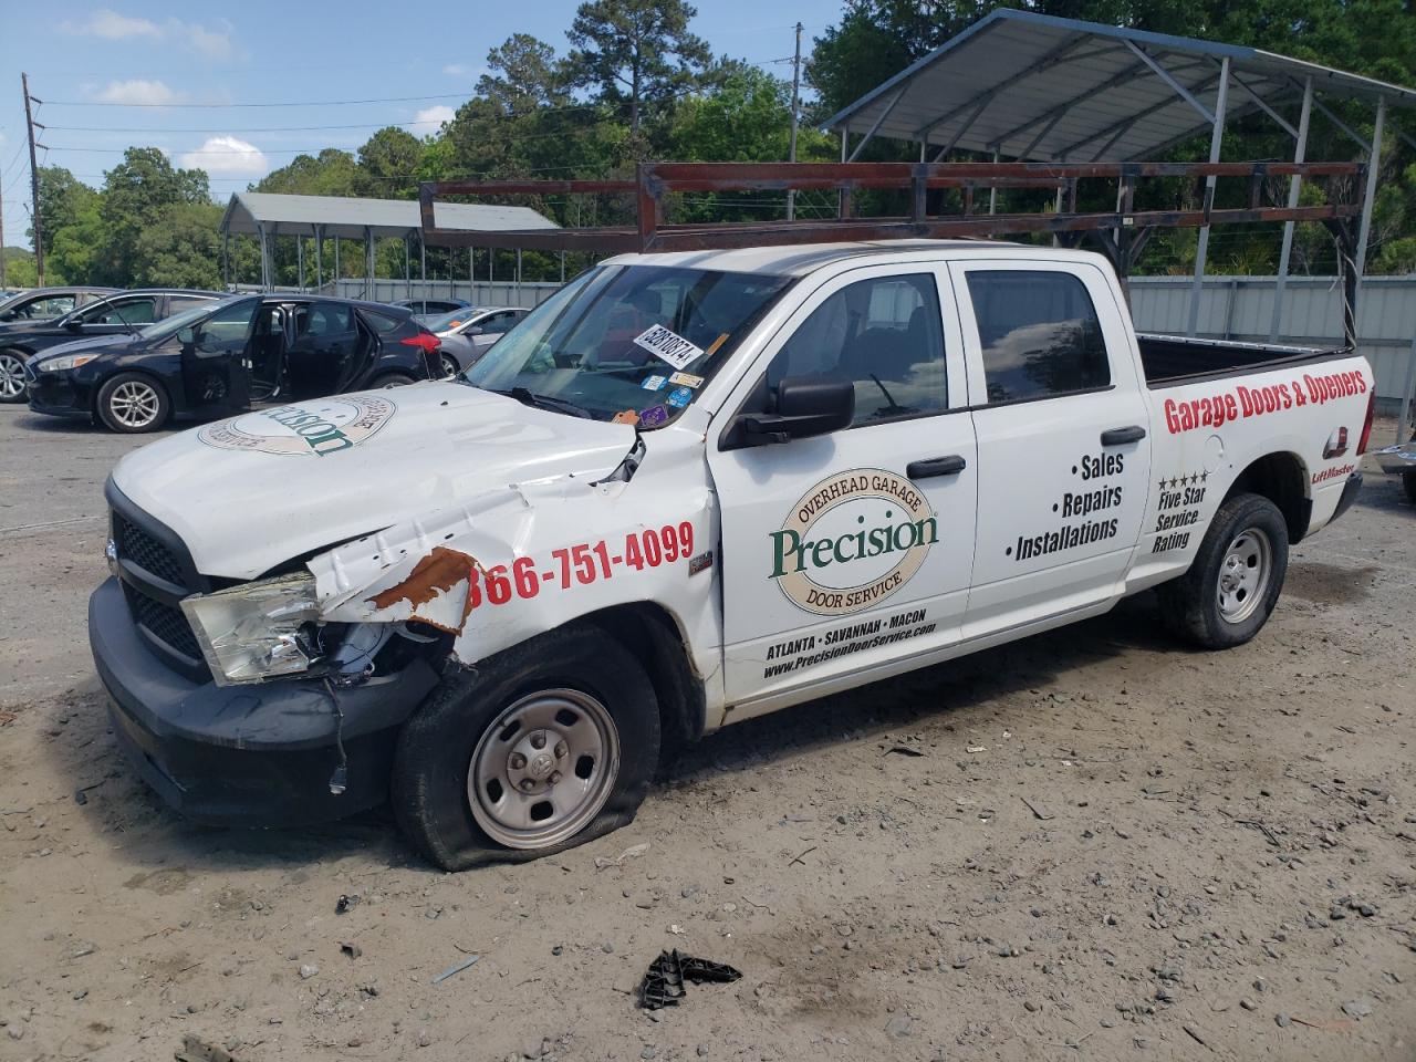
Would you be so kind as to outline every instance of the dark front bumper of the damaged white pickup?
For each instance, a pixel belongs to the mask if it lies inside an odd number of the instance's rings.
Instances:
[[[438,684],[415,657],[338,688],[337,714],[320,681],[191,681],[147,647],[116,579],[89,599],[89,644],[113,732],[143,779],[184,816],[219,826],[300,826],[382,803],[398,726]],[[336,794],[340,736],[347,787]]]

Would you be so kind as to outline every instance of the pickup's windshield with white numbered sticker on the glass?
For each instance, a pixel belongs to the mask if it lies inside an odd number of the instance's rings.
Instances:
[[[599,266],[541,303],[463,379],[528,405],[657,428],[692,404],[790,283],[763,273]]]

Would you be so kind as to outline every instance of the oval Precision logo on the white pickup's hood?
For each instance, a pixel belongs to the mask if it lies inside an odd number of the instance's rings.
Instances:
[[[222,450],[327,457],[375,435],[396,409],[388,398],[340,395],[210,423],[197,438]]]

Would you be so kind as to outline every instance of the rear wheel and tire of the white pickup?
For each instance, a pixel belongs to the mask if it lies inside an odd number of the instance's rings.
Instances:
[[[1267,623],[1289,572],[1289,525],[1269,498],[1225,501],[1189,571],[1157,588],[1161,619],[1204,649],[1232,649]]]

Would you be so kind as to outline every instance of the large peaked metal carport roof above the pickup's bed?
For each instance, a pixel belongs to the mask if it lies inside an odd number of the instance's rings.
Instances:
[[[1325,96],[1416,106],[1413,89],[1259,48],[998,8],[824,127],[920,143],[930,156],[959,149],[1038,161],[1154,159],[1211,129],[1216,105],[1223,109],[1226,58],[1228,120],[1264,110],[1293,132],[1273,106],[1300,98],[1308,78]]]

